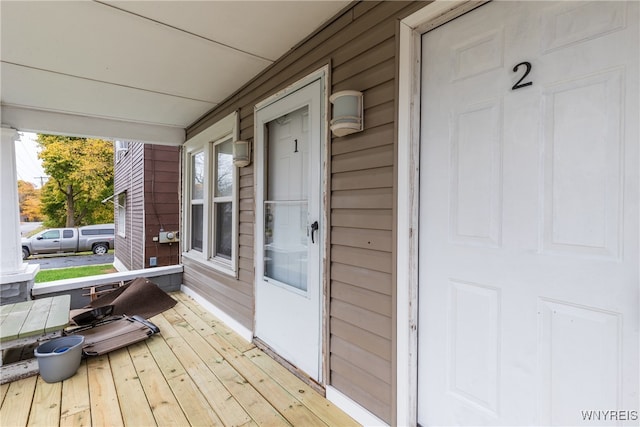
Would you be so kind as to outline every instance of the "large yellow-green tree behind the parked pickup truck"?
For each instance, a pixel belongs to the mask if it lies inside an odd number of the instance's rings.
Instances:
[[[49,227],[113,222],[113,143],[102,139],[38,135],[38,157],[49,181],[42,188],[42,211]]]

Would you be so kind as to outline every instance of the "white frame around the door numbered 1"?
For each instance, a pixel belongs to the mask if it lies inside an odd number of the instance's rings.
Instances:
[[[253,117],[254,119],[258,117],[258,111],[285,98],[288,95],[291,95],[292,93],[296,92],[299,89],[302,89],[303,87],[307,86],[310,83],[313,83],[317,80],[321,81],[321,86],[322,86],[322,93],[320,95],[321,100],[322,100],[322,105],[321,105],[321,113],[323,115],[323,117],[320,120],[320,128],[322,131],[322,135],[320,135],[320,156],[321,158],[319,159],[321,162],[320,165],[320,179],[321,179],[321,194],[320,194],[320,212],[319,212],[319,217],[321,218],[321,223],[324,224],[323,227],[321,227],[320,229],[320,238],[321,238],[321,246],[320,246],[320,259],[319,259],[319,270],[320,270],[320,279],[319,279],[319,301],[320,301],[320,346],[319,346],[319,351],[320,354],[318,355],[318,360],[319,360],[319,369],[320,369],[320,373],[319,373],[319,379],[321,381],[321,385],[326,385],[328,383],[328,363],[329,363],[329,355],[327,352],[327,349],[329,348],[329,342],[328,342],[328,330],[329,330],[329,324],[328,324],[328,317],[327,317],[327,313],[329,312],[329,308],[328,308],[328,304],[329,304],[329,286],[328,286],[328,278],[329,278],[329,274],[328,274],[328,260],[329,260],[329,231],[330,231],[330,216],[329,216],[329,212],[330,212],[330,205],[329,205],[329,185],[330,185],[330,180],[329,180],[329,174],[331,173],[330,171],[330,162],[328,161],[328,159],[331,158],[331,152],[330,152],[330,148],[331,148],[331,144],[330,144],[330,134],[329,134],[329,121],[328,121],[328,117],[329,117],[329,90],[330,90],[330,84],[329,84],[329,77],[330,77],[330,65],[327,64],[321,68],[319,68],[318,70],[306,75],[305,77],[297,80],[296,82],[288,85],[287,87],[285,87],[284,89],[274,93],[273,95],[263,99],[260,102],[257,102],[254,105],[253,108]],[[255,242],[255,247],[254,247],[254,262],[256,262],[258,260],[258,255],[259,255],[259,251],[261,252],[261,248],[259,247],[260,245],[258,245],[258,232],[260,230],[258,230],[258,224],[260,224],[263,221],[263,214],[262,211],[258,209],[258,194],[259,192],[264,193],[264,186],[265,186],[265,151],[264,151],[264,147],[257,147],[257,136],[258,136],[258,126],[260,126],[260,123],[258,123],[257,120],[254,120],[254,125],[253,125],[253,135],[254,135],[254,152],[255,152],[255,163],[254,163],[254,171],[253,171],[253,179],[254,179],[254,204],[255,204],[255,219],[254,219],[254,242]],[[264,197],[264,196],[262,196]],[[255,268],[254,266],[254,308],[253,308],[253,334],[255,337],[255,331],[256,331],[256,322],[257,322],[257,318],[256,318],[256,308],[255,308],[255,297],[257,295],[257,286],[259,283],[259,278],[258,278],[258,269]],[[298,374],[297,372],[294,372],[295,374]],[[308,379],[306,378],[302,378],[304,381],[308,381]]]

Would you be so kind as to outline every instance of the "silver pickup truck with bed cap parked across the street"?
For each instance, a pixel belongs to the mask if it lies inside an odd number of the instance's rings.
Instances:
[[[22,238],[22,259],[36,254],[93,251],[106,254],[113,249],[113,224],[87,225],[78,228],[50,228]]]

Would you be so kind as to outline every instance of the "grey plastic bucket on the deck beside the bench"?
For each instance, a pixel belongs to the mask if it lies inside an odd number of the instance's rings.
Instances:
[[[83,343],[84,336],[70,335],[40,344],[33,353],[38,359],[42,379],[55,383],[73,376],[82,360]]]

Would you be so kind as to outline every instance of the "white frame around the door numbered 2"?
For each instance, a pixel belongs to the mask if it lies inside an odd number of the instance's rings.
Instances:
[[[422,35],[488,0],[435,0],[400,21],[396,210],[396,424],[418,420],[418,239]]]

